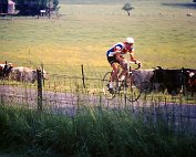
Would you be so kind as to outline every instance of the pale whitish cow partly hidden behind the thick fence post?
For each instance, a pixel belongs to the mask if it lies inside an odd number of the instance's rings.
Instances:
[[[9,78],[17,82],[34,83],[38,80],[37,70],[30,67],[13,67],[10,72]],[[43,78],[48,80],[47,72],[43,70]]]

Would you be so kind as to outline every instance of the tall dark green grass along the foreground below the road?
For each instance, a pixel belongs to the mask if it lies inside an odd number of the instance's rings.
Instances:
[[[163,119],[102,107],[71,116],[0,105],[0,148],[20,156],[157,157],[196,153],[196,137],[173,132]]]

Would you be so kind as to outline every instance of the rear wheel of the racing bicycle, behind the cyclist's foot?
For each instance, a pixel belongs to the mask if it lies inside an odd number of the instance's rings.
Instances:
[[[104,94],[104,96],[107,98],[107,100],[112,100],[115,97],[115,94],[112,94],[110,93],[109,91],[109,83],[110,83],[110,80],[111,80],[111,72],[107,72],[104,76],[103,76],[103,80],[102,80],[102,92]]]

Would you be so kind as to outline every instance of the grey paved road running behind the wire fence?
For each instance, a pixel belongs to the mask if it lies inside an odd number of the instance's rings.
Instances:
[[[16,103],[18,106],[28,106],[29,108],[38,107],[38,92],[32,88],[0,85],[1,100],[11,105]],[[152,115],[154,121],[162,116],[174,126],[183,124],[182,126],[185,129],[194,130],[196,134],[196,104],[164,103],[145,100],[125,103],[123,97],[115,97],[112,101],[107,101],[101,94],[43,92],[42,106],[44,111],[74,116],[78,107],[82,105],[102,105],[110,109],[123,109],[126,107],[134,115],[144,113],[144,118]]]

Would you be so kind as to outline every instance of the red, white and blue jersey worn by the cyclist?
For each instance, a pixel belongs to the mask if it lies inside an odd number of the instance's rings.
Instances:
[[[123,42],[118,42],[114,44],[107,52],[106,56],[114,56],[116,53],[125,54],[128,51],[132,51],[133,46],[130,48],[130,50],[125,49],[125,44]]]

